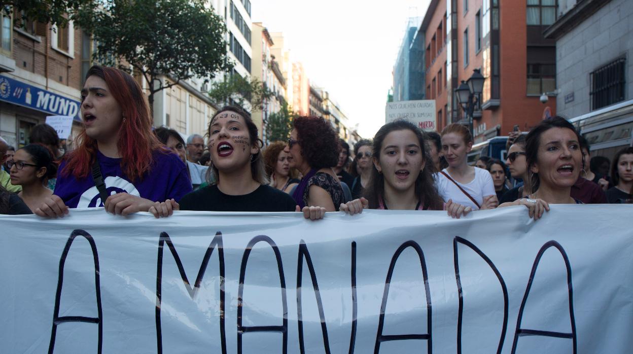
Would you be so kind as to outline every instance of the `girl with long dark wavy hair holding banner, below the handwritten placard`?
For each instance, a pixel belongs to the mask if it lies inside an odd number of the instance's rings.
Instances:
[[[434,186],[429,144],[413,123],[396,120],[380,128],[373,138],[372,170],[364,197],[342,204],[350,214],[363,208],[391,210],[446,210],[452,217],[472,208],[446,205]]]

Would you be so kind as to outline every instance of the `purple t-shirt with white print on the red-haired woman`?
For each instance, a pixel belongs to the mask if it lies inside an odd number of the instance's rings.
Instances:
[[[179,201],[182,196],[192,191],[187,167],[177,155],[154,151],[153,158],[154,162],[149,172],[141,180],[135,180],[133,183],[121,170],[120,158],[109,158],[97,151],[97,160],[108,194],[126,192],[151,201],[172,198]],[[60,171],[65,165],[66,161],[63,161]],[[60,196],[69,208],[103,206],[92,179],[92,172],[84,179],[75,179],[72,174],[58,174],[54,194]]]

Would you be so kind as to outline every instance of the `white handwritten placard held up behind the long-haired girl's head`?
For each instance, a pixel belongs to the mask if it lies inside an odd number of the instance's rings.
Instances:
[[[423,130],[436,130],[436,107],[434,99],[418,101],[387,102],[385,122],[404,119]]]

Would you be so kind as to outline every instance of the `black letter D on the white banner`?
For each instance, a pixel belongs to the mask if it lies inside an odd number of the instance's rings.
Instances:
[[[501,338],[499,338],[499,346],[497,347],[497,354],[501,354],[501,349],[503,348],[503,342],[506,339],[506,329],[508,326],[508,288],[506,288],[506,282],[503,280],[501,273],[497,267],[495,267],[494,263],[486,256],[477,246],[470,243],[466,239],[461,238],[460,236],[455,236],[453,239],[453,256],[455,263],[455,279],[457,281],[457,293],[460,298],[460,308],[457,315],[457,354],[461,354],[461,320],[463,318],[463,310],[464,310],[464,300],[463,300],[463,291],[461,290],[461,278],[460,278],[460,264],[458,262],[458,252],[457,252],[457,244],[461,243],[465,246],[470,247],[473,251],[475,251],[481,258],[483,258],[486,263],[492,269],[497,278],[499,279],[499,284],[501,284],[501,291],[503,291],[503,325],[501,327]]]

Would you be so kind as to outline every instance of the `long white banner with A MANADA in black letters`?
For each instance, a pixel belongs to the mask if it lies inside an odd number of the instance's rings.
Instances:
[[[1,216],[1,353],[630,353],[630,205]]]

